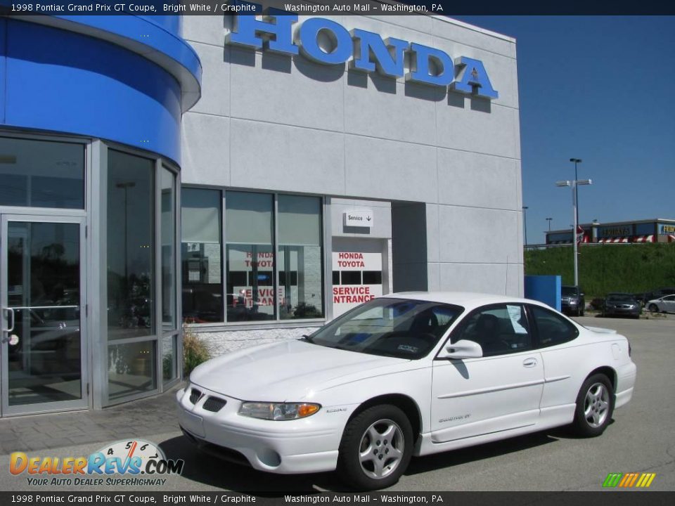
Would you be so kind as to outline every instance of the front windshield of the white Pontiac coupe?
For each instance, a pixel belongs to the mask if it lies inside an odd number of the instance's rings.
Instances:
[[[426,356],[464,311],[461,306],[409,299],[373,299],[336,318],[306,341],[372,355]]]

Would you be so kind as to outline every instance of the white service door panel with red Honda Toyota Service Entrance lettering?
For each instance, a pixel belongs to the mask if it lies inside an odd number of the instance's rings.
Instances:
[[[382,253],[333,252],[334,316],[382,294]]]

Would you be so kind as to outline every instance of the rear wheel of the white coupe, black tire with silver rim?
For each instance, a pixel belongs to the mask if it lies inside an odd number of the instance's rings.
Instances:
[[[577,395],[572,429],[581,437],[600,436],[607,428],[614,412],[612,382],[603,374],[586,378]]]

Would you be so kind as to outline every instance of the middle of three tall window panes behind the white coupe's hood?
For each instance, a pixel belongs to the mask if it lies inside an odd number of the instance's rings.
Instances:
[[[272,195],[227,192],[227,321],[274,320]]]

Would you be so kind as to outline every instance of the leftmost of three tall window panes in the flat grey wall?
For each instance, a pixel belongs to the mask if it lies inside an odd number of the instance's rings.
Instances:
[[[220,190],[183,188],[181,193],[183,319],[223,322]]]

